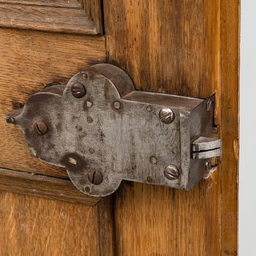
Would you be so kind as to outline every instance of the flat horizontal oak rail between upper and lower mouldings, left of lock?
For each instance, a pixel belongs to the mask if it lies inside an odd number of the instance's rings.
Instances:
[[[39,31],[0,29],[0,167],[67,177],[66,170],[47,165],[31,154],[18,127],[4,116],[31,94],[105,61],[104,37],[82,37]]]

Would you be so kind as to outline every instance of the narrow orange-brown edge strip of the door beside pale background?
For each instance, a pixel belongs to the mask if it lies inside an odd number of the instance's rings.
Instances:
[[[238,255],[240,1],[222,1],[222,255]]]

